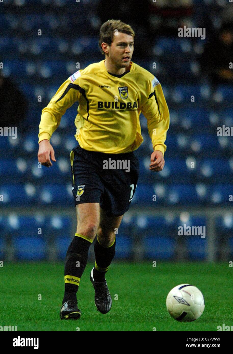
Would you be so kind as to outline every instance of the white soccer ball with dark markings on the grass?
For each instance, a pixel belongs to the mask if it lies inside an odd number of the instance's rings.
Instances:
[[[167,311],[175,320],[191,322],[203,314],[205,299],[200,290],[189,284],[175,286],[166,299]]]

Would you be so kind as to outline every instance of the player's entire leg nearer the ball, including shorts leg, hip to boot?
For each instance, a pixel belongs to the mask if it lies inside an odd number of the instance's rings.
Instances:
[[[112,156],[103,156],[103,159],[108,157]],[[120,226],[124,213],[129,210],[139,174],[139,161],[133,153],[119,154],[114,158],[121,161],[128,160],[130,170],[116,169],[114,173],[112,170],[106,170],[103,177],[104,193],[100,202],[100,227],[94,247],[96,262],[90,274],[95,289],[95,304],[101,313],[107,313],[112,306],[105,273],[115,255],[114,231]]]

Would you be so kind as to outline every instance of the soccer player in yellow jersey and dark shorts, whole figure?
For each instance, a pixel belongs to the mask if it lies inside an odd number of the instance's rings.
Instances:
[[[137,187],[139,161],[133,151],[143,142],[141,112],[153,146],[148,167],[152,172],[164,167],[169,110],[159,81],[131,61],[134,36],[130,25],[120,20],[105,22],[99,39],[105,60],[70,76],[42,110],[38,160],[50,167],[51,160],[56,161],[51,135],[67,108],[79,102],[75,119],[79,145],[70,153],[78,223],[65,260],[61,319],[80,318],[76,292],[96,234],[90,280],[97,310],[105,314],[111,309],[105,274],[115,255],[115,230]]]

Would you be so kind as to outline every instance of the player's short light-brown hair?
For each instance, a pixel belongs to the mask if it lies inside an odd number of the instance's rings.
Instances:
[[[110,46],[113,42],[114,35],[117,32],[129,34],[133,38],[135,36],[135,33],[129,24],[126,24],[120,20],[108,20],[104,22],[100,28],[100,39],[99,39],[99,47],[102,54],[105,53],[101,47],[101,44],[104,42]]]

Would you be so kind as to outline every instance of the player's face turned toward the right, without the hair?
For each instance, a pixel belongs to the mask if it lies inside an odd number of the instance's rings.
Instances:
[[[118,32],[109,46],[109,59],[118,68],[127,68],[133,54],[133,37],[126,33]]]

